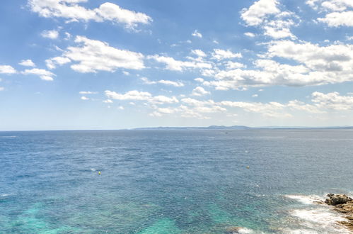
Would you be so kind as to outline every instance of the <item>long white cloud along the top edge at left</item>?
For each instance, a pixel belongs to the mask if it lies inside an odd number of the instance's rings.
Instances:
[[[138,23],[147,24],[152,21],[145,13],[122,9],[116,4],[106,2],[96,9],[86,9],[79,3],[87,0],[28,0],[33,12],[45,18],[66,18],[69,21],[112,21],[122,23],[127,28],[134,28]]]

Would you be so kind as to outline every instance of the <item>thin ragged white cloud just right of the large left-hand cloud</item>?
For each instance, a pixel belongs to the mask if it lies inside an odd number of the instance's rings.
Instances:
[[[212,65],[208,62],[195,62],[195,61],[180,61],[175,60],[173,57],[165,57],[160,55],[152,55],[149,56],[149,59],[156,60],[157,62],[161,62],[166,64],[166,69],[173,71],[182,72],[185,69],[193,68],[193,69],[203,69],[203,68],[212,68]]]

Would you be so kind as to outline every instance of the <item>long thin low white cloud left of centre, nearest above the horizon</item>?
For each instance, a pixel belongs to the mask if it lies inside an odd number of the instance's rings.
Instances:
[[[115,91],[105,91],[105,96],[108,99],[115,99],[115,100],[129,100],[129,101],[148,101],[151,104],[175,104],[178,103],[178,99],[175,96],[168,97],[168,96],[152,96],[149,92],[145,91],[127,91],[125,94],[119,94]]]

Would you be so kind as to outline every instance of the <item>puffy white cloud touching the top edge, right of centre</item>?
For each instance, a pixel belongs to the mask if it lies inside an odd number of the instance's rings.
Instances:
[[[243,9],[241,18],[248,26],[260,25],[268,15],[279,13],[277,0],[259,0],[248,9]]]

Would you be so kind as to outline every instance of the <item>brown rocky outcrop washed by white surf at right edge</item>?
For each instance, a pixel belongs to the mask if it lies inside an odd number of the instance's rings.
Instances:
[[[350,230],[353,230],[353,199],[345,194],[328,194],[325,204],[335,206],[335,211],[345,214],[347,221],[341,221]]]

